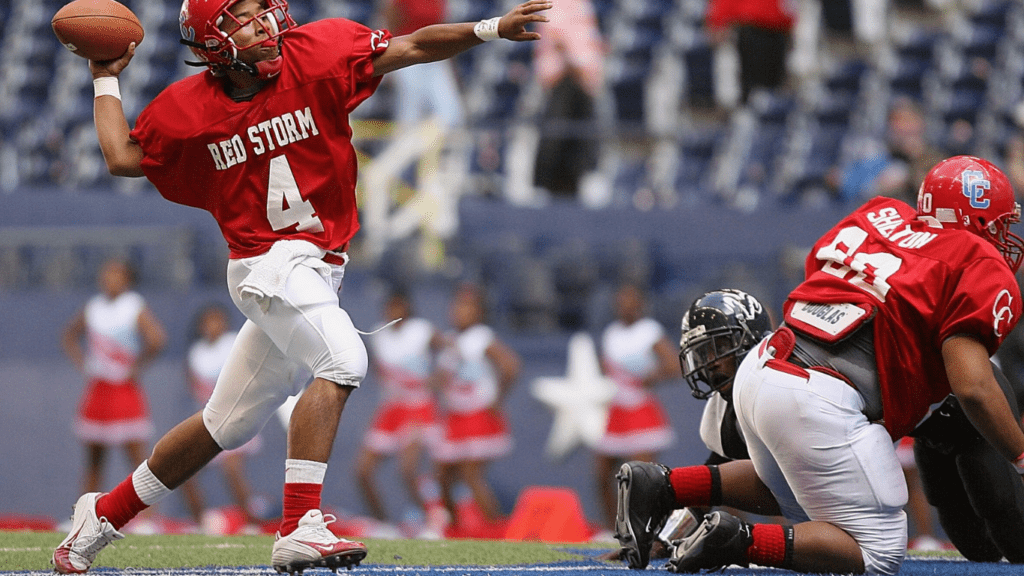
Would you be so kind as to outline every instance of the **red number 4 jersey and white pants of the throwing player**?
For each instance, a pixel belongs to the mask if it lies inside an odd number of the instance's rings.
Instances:
[[[161,92],[131,132],[160,194],[209,211],[230,250],[230,295],[248,321],[203,413],[224,449],[300,392],[299,368],[347,386],[366,375],[366,346],[339,306],[338,252],[358,229],[348,115],[379,85],[373,58],[389,38],[340,18],[298,27],[251,100],[198,74]]]

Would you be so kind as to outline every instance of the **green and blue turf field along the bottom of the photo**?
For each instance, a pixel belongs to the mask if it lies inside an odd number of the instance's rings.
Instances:
[[[0,574],[44,576],[56,532],[0,532]],[[130,535],[105,548],[95,576],[276,576],[269,566],[271,536]],[[599,556],[609,544],[553,544],[505,540],[366,540],[370,554],[352,576],[629,576],[620,562]],[[665,561],[649,570],[667,574]],[[641,572],[646,573],[646,572]],[[727,576],[788,574],[771,568],[731,567]],[[347,574],[339,570],[339,574]],[[1020,576],[1020,565],[964,562],[954,551],[913,553],[897,576]],[[305,576],[330,575],[325,569]]]

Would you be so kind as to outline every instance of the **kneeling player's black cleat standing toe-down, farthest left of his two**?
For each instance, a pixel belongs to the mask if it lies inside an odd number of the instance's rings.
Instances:
[[[618,468],[618,506],[615,539],[630,568],[643,570],[650,563],[650,546],[676,503],[669,468],[650,462],[627,462]]]

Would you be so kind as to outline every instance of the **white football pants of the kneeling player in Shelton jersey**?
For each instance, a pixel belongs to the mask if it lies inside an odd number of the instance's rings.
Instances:
[[[867,420],[845,381],[766,367],[771,358],[759,349],[743,359],[732,392],[758,477],[787,519],[842,528],[860,544],[868,574],[895,574],[906,552],[907,491],[889,433]]]

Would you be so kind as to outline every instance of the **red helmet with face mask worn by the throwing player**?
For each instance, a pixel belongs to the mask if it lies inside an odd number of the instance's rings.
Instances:
[[[181,27],[181,42],[196,54],[203,65],[214,71],[223,69],[244,70],[260,78],[272,78],[281,71],[281,55],[271,60],[248,65],[238,59],[240,50],[251,48],[268,40],[279,40],[281,36],[297,25],[288,13],[288,0],[263,0],[264,9],[253,17],[241,22],[234,17],[229,8],[242,0],[183,0],[178,24]],[[265,32],[266,37],[249,44],[239,46],[231,35],[224,33],[220,26],[225,20],[234,20],[236,31],[245,28],[255,20]],[[190,64],[190,63],[189,63]]]

